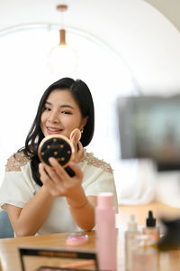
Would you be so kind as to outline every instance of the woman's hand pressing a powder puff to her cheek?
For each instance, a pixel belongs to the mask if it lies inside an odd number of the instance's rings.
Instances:
[[[81,132],[79,129],[75,129],[72,131],[70,135],[70,141],[74,145],[75,148],[75,155],[73,157],[73,162],[79,163],[85,159],[85,151],[83,145],[79,141],[81,138]]]

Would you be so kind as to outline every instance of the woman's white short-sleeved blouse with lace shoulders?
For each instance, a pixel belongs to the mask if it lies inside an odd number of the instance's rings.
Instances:
[[[6,210],[6,203],[23,208],[40,190],[40,186],[34,182],[31,175],[31,162],[24,158],[23,153],[18,154],[17,158],[11,156],[9,161],[4,174],[4,182],[0,188],[0,207],[4,210]],[[79,163],[79,166],[84,173],[82,186],[85,195],[97,196],[99,192],[112,192],[114,207],[117,211],[117,195],[111,166],[88,153],[85,160]],[[76,230],[81,229],[76,226],[72,219],[66,198],[58,197],[55,198],[49,216],[37,234]]]

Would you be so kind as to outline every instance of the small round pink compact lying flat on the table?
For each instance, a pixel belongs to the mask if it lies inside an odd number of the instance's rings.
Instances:
[[[82,246],[88,242],[88,235],[84,232],[73,232],[67,235],[66,243],[68,246]]]

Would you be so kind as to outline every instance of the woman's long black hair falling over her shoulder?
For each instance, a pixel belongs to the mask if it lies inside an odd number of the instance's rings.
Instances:
[[[91,92],[85,82],[80,79],[74,80],[70,78],[63,78],[51,84],[49,88],[46,89],[40,99],[40,104],[37,110],[36,117],[34,118],[30,132],[26,137],[25,146],[22,149],[23,153],[31,158],[32,177],[34,181],[40,186],[42,185],[42,182],[40,181],[39,173],[40,159],[38,157],[38,147],[41,140],[44,138],[44,135],[40,128],[40,118],[44,110],[45,102],[49,97],[50,92],[52,92],[54,89],[68,90],[72,94],[73,98],[76,100],[76,103],[80,108],[82,117],[87,117],[87,122],[80,139],[82,145],[88,145],[94,135],[94,102]]]

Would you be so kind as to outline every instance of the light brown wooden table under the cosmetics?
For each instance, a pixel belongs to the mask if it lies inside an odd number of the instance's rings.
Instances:
[[[118,271],[125,271],[124,266],[124,229],[129,220],[130,213],[133,212],[137,216],[139,225],[144,225],[144,220],[147,216],[147,210],[154,210],[157,215],[158,211],[166,210],[166,206],[161,203],[152,203],[144,206],[120,206],[120,215],[118,224]],[[178,214],[179,209],[168,209],[174,215]],[[6,238],[0,239],[0,259],[3,271],[19,271],[21,262],[18,252],[20,246],[31,247],[48,247],[48,248],[72,248],[66,245],[67,233],[49,234],[23,238]],[[94,231],[88,232],[89,241],[85,246],[76,247],[78,249],[94,249]],[[180,251],[171,251],[168,253],[160,253],[159,271],[179,271],[180,270]],[[146,270],[145,270],[146,271]]]

